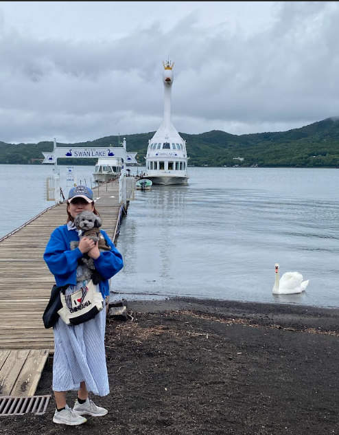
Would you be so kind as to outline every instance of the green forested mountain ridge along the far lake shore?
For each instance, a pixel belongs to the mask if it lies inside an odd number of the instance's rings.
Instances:
[[[154,135],[124,135],[130,153],[145,163],[148,140]],[[180,133],[187,141],[190,166],[258,166],[295,168],[339,167],[339,118],[327,118],[289,131],[231,135],[213,130],[199,135]],[[122,137],[120,135],[120,137]],[[58,146],[117,146],[118,136]],[[0,142],[0,164],[41,164],[43,152],[53,150],[53,142],[6,144]],[[94,165],[96,159],[58,159],[58,164]]]

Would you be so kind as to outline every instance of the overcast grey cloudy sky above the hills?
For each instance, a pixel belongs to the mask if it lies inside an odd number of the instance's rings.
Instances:
[[[2,1],[0,141],[287,131],[339,115],[338,1]]]

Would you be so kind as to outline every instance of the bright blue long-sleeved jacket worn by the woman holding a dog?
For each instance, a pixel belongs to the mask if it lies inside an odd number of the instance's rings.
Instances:
[[[124,267],[124,262],[120,252],[110,241],[106,232],[103,230],[101,232],[110,246],[110,251],[100,252],[100,256],[94,260],[94,264],[97,271],[104,278],[99,286],[102,295],[105,297],[110,294],[108,280]],[[52,232],[47,243],[43,258],[54,275],[58,286],[76,285],[76,269],[78,258],[82,257],[82,252],[78,247],[71,251],[69,243],[78,240],[79,236],[76,230],[69,230],[67,225],[61,225]]]

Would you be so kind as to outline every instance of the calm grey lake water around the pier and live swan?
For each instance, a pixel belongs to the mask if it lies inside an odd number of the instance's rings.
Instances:
[[[91,186],[92,167],[74,170]],[[44,199],[51,172],[0,165],[0,237],[53,205]],[[187,186],[136,191],[117,240],[124,269],[112,279],[113,298],[339,307],[339,170],[189,168],[189,175]],[[60,166],[62,186],[66,176]],[[274,263],[281,275],[301,272],[306,291],[272,295]]]

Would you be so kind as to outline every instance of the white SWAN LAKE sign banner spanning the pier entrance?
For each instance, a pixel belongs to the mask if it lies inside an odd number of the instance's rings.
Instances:
[[[54,163],[56,164],[58,159],[67,159],[67,158],[110,158],[110,157],[119,157],[123,159],[125,163],[137,163],[135,156],[137,153],[127,153],[124,147],[117,148],[54,148],[51,153],[43,153],[45,157],[43,163]]]

